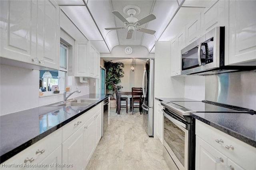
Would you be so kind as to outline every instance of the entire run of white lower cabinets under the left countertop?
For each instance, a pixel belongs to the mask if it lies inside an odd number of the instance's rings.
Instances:
[[[101,139],[101,126],[102,103],[6,160],[0,169],[84,170]]]

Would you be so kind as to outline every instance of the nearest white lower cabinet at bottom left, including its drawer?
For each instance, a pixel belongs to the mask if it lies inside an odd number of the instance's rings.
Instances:
[[[62,163],[62,129],[58,129],[30,147],[22,150],[0,165],[1,170],[61,170],[56,164]],[[54,163],[54,164],[52,164]],[[21,165],[10,168],[8,164]],[[52,165],[52,166],[51,166]],[[41,166],[41,167],[36,167]]]

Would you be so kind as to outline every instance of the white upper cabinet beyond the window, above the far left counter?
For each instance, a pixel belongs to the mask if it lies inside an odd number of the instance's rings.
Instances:
[[[90,41],[75,41],[74,63],[74,76],[100,78],[100,53]]]

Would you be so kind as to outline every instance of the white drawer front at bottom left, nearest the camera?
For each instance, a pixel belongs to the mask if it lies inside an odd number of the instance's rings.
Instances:
[[[54,131],[50,135],[44,137],[40,141],[31,145],[30,147],[22,150],[22,152],[16,154],[12,158],[3,162],[0,165],[1,170],[10,170],[10,167],[5,167],[3,166],[3,164],[22,165],[20,168],[15,168],[15,170],[25,170],[34,168],[27,168],[26,166],[24,166],[24,164],[36,165],[42,162],[50,153],[52,153],[58,146],[61,145],[61,139],[62,128]]]

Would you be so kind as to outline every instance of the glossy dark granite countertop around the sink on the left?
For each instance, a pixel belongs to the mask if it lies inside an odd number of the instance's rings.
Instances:
[[[0,116],[0,163],[82,115],[108,96],[88,94],[77,97],[98,99],[85,107],[40,106]]]

